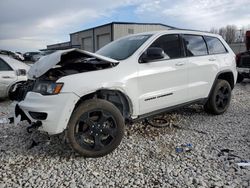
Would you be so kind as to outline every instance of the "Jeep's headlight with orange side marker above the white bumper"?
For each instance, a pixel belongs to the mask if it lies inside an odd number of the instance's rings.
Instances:
[[[60,93],[63,83],[55,83],[50,81],[36,82],[33,92],[41,93],[42,95],[55,95]]]

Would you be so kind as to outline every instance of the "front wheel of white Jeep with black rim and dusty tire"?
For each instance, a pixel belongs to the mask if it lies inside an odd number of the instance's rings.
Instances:
[[[111,153],[124,135],[124,118],[110,102],[90,99],[72,113],[66,135],[71,147],[85,157]]]

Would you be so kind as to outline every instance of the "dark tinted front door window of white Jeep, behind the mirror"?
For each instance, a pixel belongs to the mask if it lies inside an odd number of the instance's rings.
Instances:
[[[179,35],[163,35],[156,39],[150,47],[162,48],[170,59],[183,57]]]

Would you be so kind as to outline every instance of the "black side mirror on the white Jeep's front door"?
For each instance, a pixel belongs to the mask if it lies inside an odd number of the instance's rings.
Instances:
[[[152,60],[163,59],[165,53],[163,49],[157,47],[148,48],[140,58],[141,63],[147,63]]]

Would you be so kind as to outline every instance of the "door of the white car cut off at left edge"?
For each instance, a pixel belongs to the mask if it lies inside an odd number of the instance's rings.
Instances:
[[[8,87],[15,82],[15,71],[0,58],[0,97],[6,97]]]

